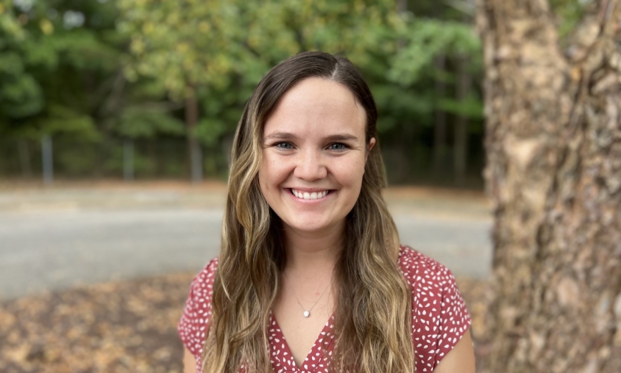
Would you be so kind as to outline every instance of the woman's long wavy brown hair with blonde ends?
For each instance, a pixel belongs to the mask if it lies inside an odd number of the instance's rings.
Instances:
[[[282,221],[261,194],[258,171],[265,121],[297,82],[320,77],[348,87],[366,113],[366,143],[377,138],[377,109],[360,72],[344,57],[304,52],[272,68],[253,92],[235,133],[222,248],[204,373],[270,372],[268,324],[287,260]],[[346,217],[346,246],[334,270],[336,347],[332,372],[414,370],[412,299],[397,264],[399,236],[387,209],[379,144],[371,149],[360,196]]]

